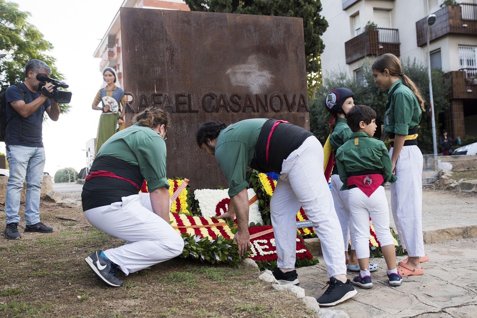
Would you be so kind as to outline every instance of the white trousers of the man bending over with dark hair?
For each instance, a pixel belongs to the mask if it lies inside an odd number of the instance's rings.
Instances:
[[[323,172],[323,148],[316,137],[283,160],[280,178],[270,201],[279,268],[295,268],[296,219],[303,207],[321,241],[328,277],[345,274],[343,236]]]

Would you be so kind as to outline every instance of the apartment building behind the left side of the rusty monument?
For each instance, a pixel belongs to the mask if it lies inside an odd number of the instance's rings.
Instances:
[[[121,7],[161,9],[161,10],[186,10],[190,11],[183,0],[124,0]],[[118,80],[123,87],[123,60],[121,56],[121,18],[119,10],[114,16],[103,39],[94,51],[93,57],[101,58],[100,72],[105,67],[111,67],[117,72]]]

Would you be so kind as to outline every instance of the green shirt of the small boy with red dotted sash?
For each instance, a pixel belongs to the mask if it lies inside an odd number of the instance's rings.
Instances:
[[[347,190],[348,175],[363,170],[381,170],[384,182],[394,183],[393,163],[384,142],[369,137],[365,132],[354,132],[336,152],[336,166],[343,186]]]

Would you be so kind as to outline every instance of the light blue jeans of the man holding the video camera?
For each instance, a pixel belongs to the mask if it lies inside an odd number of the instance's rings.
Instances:
[[[19,223],[21,189],[25,179],[27,191],[25,196],[25,219],[27,225],[40,222],[40,193],[45,167],[45,149],[37,147],[10,145],[7,150],[10,177],[5,194],[6,224]]]

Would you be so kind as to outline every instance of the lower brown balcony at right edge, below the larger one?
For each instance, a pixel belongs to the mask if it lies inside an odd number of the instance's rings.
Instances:
[[[477,69],[451,71],[444,77],[451,79],[448,99],[477,99]]]

